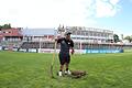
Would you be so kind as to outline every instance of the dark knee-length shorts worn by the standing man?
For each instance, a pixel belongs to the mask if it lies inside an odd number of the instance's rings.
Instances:
[[[65,63],[69,64],[70,63],[70,56],[69,54],[58,54],[59,57],[59,63],[61,65],[64,65]]]

